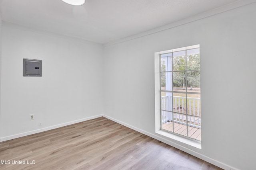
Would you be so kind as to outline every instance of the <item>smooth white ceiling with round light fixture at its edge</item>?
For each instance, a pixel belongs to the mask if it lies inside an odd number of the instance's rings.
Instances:
[[[109,43],[238,0],[0,0],[3,21]]]

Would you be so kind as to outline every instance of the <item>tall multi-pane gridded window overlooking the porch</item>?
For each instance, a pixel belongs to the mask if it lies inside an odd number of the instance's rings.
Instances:
[[[199,45],[159,57],[161,129],[201,141]]]

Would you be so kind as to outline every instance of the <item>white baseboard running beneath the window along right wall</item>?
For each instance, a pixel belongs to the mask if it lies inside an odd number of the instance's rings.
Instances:
[[[196,156],[197,158],[200,158],[200,159],[202,159],[202,160],[204,160],[204,161],[206,161],[206,162],[209,162],[209,163],[211,163],[211,164],[214,164],[215,166],[218,166],[218,167],[220,167],[220,168],[223,168],[224,170],[238,170],[238,169],[236,169],[236,168],[234,168],[234,167],[232,167],[232,166],[228,166],[227,164],[224,164],[224,163],[222,163],[222,162],[220,162],[220,161],[218,161],[218,160],[215,160],[215,159],[213,159],[213,158],[210,158],[210,157],[208,157],[208,156],[205,156],[205,155],[203,155],[203,154],[201,154],[201,153],[198,153],[198,152],[196,152],[196,151],[194,151],[194,150],[191,150],[191,149],[189,149],[189,148],[186,148],[186,147],[184,147],[184,146],[182,146],[182,145],[179,145],[179,144],[177,144],[177,143],[174,143],[174,142],[172,142],[172,141],[166,140],[166,139],[162,138],[161,136],[158,136],[158,135],[155,135],[155,134],[152,134],[152,133],[148,133],[147,131],[144,131],[144,130],[142,130],[142,129],[139,129],[139,128],[137,128],[137,127],[134,127],[134,126],[132,126],[132,125],[129,125],[129,124],[127,124],[127,123],[124,123],[124,122],[122,122],[122,121],[118,121],[118,120],[116,120],[116,119],[114,119],[114,118],[112,118],[112,117],[109,117],[109,116],[107,116],[107,115],[103,115],[103,117],[106,117],[107,119],[110,119],[110,120],[112,120],[112,121],[114,121],[114,122],[116,122],[116,123],[119,123],[119,124],[121,124],[121,125],[124,125],[124,126],[126,126],[126,127],[129,127],[129,128],[131,128],[131,129],[133,129],[133,130],[135,130],[135,131],[138,131],[138,132],[140,132],[140,133],[143,133],[144,135],[147,135],[147,136],[149,136],[149,137],[152,137],[152,138],[154,138],[154,139],[156,139],[156,140],[158,140],[158,141],[161,141],[161,142],[163,142],[163,143],[166,143],[166,144],[168,144],[168,145],[170,145],[170,146],[172,146],[172,147],[175,147],[175,148],[177,148],[177,149],[180,149],[180,150],[182,150],[182,151],[184,151],[184,152],[186,152],[186,153],[188,153],[188,154],[191,154],[191,155],[193,155],[193,156]]]

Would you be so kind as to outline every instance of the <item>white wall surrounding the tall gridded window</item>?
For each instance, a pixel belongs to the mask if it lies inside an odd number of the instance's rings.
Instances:
[[[104,47],[105,114],[162,137],[155,133],[154,53],[200,44],[202,149],[180,145],[224,168],[256,169],[255,9],[253,3]]]

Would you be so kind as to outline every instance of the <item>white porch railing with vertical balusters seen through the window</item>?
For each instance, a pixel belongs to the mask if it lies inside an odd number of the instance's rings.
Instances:
[[[173,96],[173,109],[168,109],[168,104],[172,105],[172,99],[169,98],[169,96],[162,96],[161,99],[162,123],[173,121],[185,125],[188,123],[189,126],[201,128],[200,98],[187,97],[186,103],[186,97]],[[173,112],[169,112],[171,110]]]

